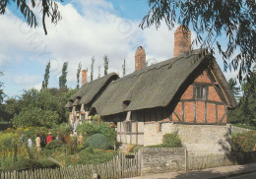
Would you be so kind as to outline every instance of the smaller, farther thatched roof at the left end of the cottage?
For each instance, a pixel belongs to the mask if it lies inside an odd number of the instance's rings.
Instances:
[[[110,73],[104,77],[96,79],[93,82],[85,84],[79,89],[67,102],[65,107],[72,107],[73,105],[89,104],[96,100],[96,97],[114,80],[118,79],[116,73]]]

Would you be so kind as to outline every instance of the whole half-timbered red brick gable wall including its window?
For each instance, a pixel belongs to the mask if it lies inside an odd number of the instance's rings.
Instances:
[[[224,124],[226,104],[222,90],[206,70],[185,90],[173,113],[173,122]]]

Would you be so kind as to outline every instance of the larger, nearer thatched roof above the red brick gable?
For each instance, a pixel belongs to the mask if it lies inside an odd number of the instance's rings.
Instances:
[[[180,89],[188,82],[187,79],[195,77],[197,71],[205,70],[211,61],[215,61],[214,57],[206,50],[194,50],[136,71],[112,82],[93,104],[92,109],[97,114],[106,116],[124,111],[165,107],[177,92],[181,92]],[[222,71],[219,71],[220,67],[216,62],[213,64],[221,88],[227,94],[228,107],[232,108],[235,106],[234,97]]]

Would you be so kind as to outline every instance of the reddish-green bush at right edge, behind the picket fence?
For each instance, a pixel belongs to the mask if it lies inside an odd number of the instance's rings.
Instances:
[[[232,134],[231,149],[233,151],[251,151],[256,144],[256,132]]]

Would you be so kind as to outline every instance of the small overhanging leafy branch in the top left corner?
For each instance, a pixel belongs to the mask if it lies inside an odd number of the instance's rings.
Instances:
[[[63,2],[63,0],[60,0]],[[23,14],[27,24],[30,27],[36,28],[38,26],[36,13],[34,13],[35,8],[40,8],[42,27],[44,33],[47,34],[45,26],[45,17],[50,18],[52,24],[57,24],[61,20],[60,12],[58,10],[58,5],[55,0],[41,0],[35,1],[30,0],[4,0],[0,3],[0,14],[4,15],[6,13],[7,5],[12,5],[17,7],[19,11]]]

